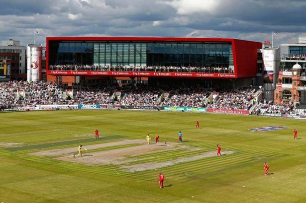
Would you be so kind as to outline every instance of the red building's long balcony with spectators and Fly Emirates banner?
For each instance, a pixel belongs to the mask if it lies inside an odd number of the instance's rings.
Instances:
[[[50,75],[96,75],[96,76],[137,76],[137,77],[198,77],[237,78],[233,67],[156,67],[156,66],[79,66],[51,65]]]

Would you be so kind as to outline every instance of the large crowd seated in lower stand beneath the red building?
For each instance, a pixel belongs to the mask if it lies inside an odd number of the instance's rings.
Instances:
[[[255,89],[228,89],[197,87],[153,87],[148,85],[129,86],[74,86],[73,94],[67,95],[65,86],[44,81],[10,81],[0,83],[0,108],[34,106],[39,104],[101,104],[126,106],[182,106],[243,109],[250,108]],[[170,96],[161,98],[163,91]],[[18,94],[21,91],[22,94]],[[121,92],[119,98],[113,92]],[[219,98],[211,101],[208,106],[207,97],[211,92],[218,92]],[[209,102],[210,100],[208,100]]]

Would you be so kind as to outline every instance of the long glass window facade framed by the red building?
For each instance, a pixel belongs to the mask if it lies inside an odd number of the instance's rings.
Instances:
[[[230,43],[51,42],[49,65],[232,67]]]

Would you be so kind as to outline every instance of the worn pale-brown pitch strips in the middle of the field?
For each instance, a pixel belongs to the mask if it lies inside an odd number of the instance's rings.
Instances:
[[[140,144],[140,145],[127,146],[123,148],[120,147],[117,149],[96,151],[92,153],[90,152],[91,149],[100,149],[109,146],[119,146],[127,144]],[[216,155],[216,151],[208,151],[208,152],[206,151],[201,154],[177,158],[173,160],[167,160],[163,162],[154,161],[147,163],[129,164],[131,162],[141,160],[140,158],[137,159],[129,156],[145,155],[154,152],[171,151],[182,148],[186,149],[187,151],[201,150],[203,148],[192,147],[177,142],[168,142],[167,144],[161,142],[146,144],[143,139],[124,139],[115,142],[86,145],[85,147],[89,150],[89,152],[83,154],[82,157],[73,156],[73,153],[76,152],[77,147],[44,150],[44,151],[33,152],[30,154],[35,156],[54,156],[54,159],[57,160],[81,163],[86,165],[100,165],[100,164],[119,165],[121,170],[128,172],[154,170],[157,168],[173,166],[175,164],[189,162],[189,161],[196,161],[199,159],[204,159]],[[222,155],[232,154],[232,153],[234,153],[234,151],[224,151],[222,152]]]

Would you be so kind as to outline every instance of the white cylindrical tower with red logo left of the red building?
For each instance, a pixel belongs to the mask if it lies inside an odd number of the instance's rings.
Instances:
[[[42,46],[28,45],[27,47],[27,81],[41,80]]]

